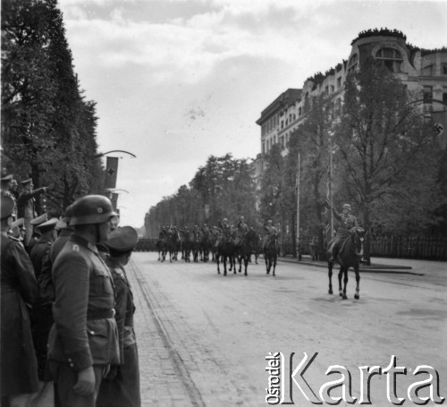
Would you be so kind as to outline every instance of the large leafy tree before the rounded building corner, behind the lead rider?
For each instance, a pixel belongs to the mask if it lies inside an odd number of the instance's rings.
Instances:
[[[336,202],[350,199],[367,229],[421,228],[440,205],[434,146],[420,106],[382,64],[368,59],[345,83],[334,141],[343,182]],[[367,253],[368,255],[368,253]]]

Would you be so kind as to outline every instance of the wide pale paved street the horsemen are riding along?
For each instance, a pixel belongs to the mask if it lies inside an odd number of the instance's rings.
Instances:
[[[328,367],[342,365],[351,373],[352,394],[359,397],[358,367],[385,369],[395,355],[397,366],[407,368],[407,375],[397,375],[397,396],[408,400],[409,385],[426,378],[413,376],[419,365],[436,369],[441,395],[447,396],[447,267],[380,261],[412,268],[363,273],[359,301],[353,299],[350,273],[349,300],[342,301],[327,294],[322,267],[280,262],[273,277],[260,263],[249,266],[247,277],[224,277],[215,264],[160,263],[156,253],[134,253],[129,276],[138,307],[143,405],[266,405],[268,352],[283,352],[286,360],[295,352],[294,369],[303,352],[309,359],[317,352],[305,375],[316,394],[340,377],[326,376]],[[338,284],[336,275],[333,284]],[[372,405],[392,405],[386,381],[384,374],[372,378]],[[331,396],[340,394],[338,388]],[[313,405],[297,386],[292,396],[295,405]]]

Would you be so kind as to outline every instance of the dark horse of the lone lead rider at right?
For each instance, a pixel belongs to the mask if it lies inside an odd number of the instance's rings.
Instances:
[[[356,274],[356,293],[354,298],[358,300],[360,298],[360,259],[363,255],[363,241],[365,240],[365,229],[354,226],[350,229],[349,234],[340,243],[339,248],[334,248],[336,254],[334,255],[334,261],[329,260],[327,266],[329,268],[329,293],[333,293],[333,263],[336,261],[340,265],[340,271],[338,274],[339,293],[343,300],[347,300],[346,285],[348,284],[348,270],[350,267],[354,268]],[[329,242],[329,245],[331,242]],[[329,247],[329,246],[328,246]],[[344,275],[342,288],[342,276]]]

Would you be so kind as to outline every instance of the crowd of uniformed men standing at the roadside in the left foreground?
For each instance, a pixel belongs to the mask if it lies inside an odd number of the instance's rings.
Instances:
[[[1,405],[140,405],[135,306],[125,265],[138,242],[110,199],[88,195],[33,220],[1,194]]]

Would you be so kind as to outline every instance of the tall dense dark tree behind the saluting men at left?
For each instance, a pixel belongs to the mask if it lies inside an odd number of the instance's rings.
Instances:
[[[81,96],[55,0],[2,2],[2,34],[4,154],[15,174],[52,184],[48,198],[60,214],[102,191],[95,103]]]

